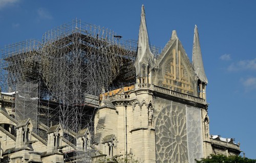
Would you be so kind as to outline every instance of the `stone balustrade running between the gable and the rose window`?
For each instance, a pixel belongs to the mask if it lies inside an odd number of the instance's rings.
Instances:
[[[154,90],[158,91],[158,92],[165,93],[165,94],[177,96],[177,97],[180,97],[180,98],[183,98],[183,99],[187,99],[187,100],[190,100],[190,101],[205,103],[205,99],[203,99],[203,98],[198,98],[198,97],[195,97],[195,96],[190,96],[188,94],[172,91],[170,89],[154,86]]]

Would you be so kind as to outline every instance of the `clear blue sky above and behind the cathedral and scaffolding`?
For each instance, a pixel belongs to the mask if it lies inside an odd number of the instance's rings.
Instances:
[[[73,19],[138,38],[141,5],[152,44],[176,30],[191,60],[197,24],[206,75],[210,133],[236,138],[256,158],[256,1],[0,0],[0,47],[42,35]]]

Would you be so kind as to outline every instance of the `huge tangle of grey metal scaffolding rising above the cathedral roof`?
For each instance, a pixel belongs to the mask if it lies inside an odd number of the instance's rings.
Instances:
[[[136,50],[137,41],[73,20],[46,32],[42,41],[2,48],[1,88],[13,92],[26,82],[37,84],[38,124],[61,123],[74,132],[87,127],[93,134],[102,87],[113,90],[135,82]],[[66,139],[76,145],[70,135]]]

